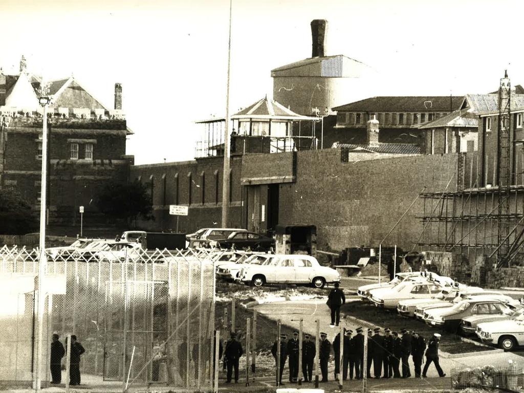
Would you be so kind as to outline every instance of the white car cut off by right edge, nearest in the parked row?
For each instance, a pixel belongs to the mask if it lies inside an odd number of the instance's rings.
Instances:
[[[476,334],[484,343],[511,351],[516,346],[524,345],[524,315],[511,320],[480,323]]]

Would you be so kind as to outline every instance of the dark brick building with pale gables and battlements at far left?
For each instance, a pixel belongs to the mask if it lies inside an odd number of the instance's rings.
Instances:
[[[41,78],[27,71],[0,71],[0,188],[15,189],[39,208],[42,157]],[[78,206],[96,219],[92,199],[108,180],[126,181],[131,134],[122,111],[122,86],[107,108],[74,77],[50,81],[48,95],[48,209],[50,225],[73,225]],[[86,215],[87,216],[87,215]],[[88,222],[86,224],[90,224]],[[94,224],[91,222],[91,224]]]

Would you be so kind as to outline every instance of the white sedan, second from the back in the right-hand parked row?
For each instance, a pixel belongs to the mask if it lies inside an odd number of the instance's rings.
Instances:
[[[378,288],[370,292],[370,300],[377,306],[386,309],[396,309],[398,302],[405,299],[423,299],[434,296],[442,291],[440,282],[425,280],[406,280],[392,288]]]

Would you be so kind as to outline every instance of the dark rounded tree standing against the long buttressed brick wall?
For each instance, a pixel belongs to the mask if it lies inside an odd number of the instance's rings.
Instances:
[[[155,220],[147,187],[138,182],[107,183],[95,197],[97,209],[113,219]]]

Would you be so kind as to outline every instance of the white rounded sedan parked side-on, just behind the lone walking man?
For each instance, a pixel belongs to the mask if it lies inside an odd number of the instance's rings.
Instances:
[[[266,283],[293,283],[323,288],[326,283],[340,282],[339,272],[320,266],[310,255],[269,255],[268,258],[270,260],[263,265],[246,266],[239,279],[255,287]]]

